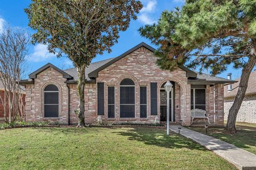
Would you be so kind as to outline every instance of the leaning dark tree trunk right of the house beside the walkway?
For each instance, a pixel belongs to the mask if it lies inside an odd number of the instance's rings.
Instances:
[[[229,132],[229,133],[234,133],[236,132],[236,116],[237,113],[239,111],[239,108],[242,105],[244,96],[245,96],[245,92],[248,86],[248,80],[250,77],[250,74],[252,72],[253,67],[256,64],[256,39],[252,40],[252,50],[251,50],[251,56],[249,57],[249,61],[247,62],[247,64],[244,66],[243,70],[242,70],[242,75],[240,78],[240,82],[239,82],[239,87],[238,87],[238,91],[235,97],[235,101],[233,103],[233,105],[231,106],[231,108],[229,109],[229,113],[228,113],[228,121],[227,121],[227,125],[225,128],[225,131]]]

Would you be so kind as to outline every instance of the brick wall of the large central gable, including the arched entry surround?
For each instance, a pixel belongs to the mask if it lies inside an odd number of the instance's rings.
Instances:
[[[183,124],[190,124],[190,84],[187,83],[186,72],[178,69],[173,72],[160,69],[156,63],[156,57],[152,52],[141,47],[135,52],[125,56],[116,63],[108,66],[99,72],[97,82],[105,83],[105,115],[102,116],[104,122],[145,122],[153,123],[156,116],[150,114],[150,82],[157,82],[158,91],[158,117],[160,116],[159,91],[166,81],[175,82],[175,118],[176,121],[183,120]],[[119,118],[119,84],[125,79],[132,79],[135,83],[135,118]],[[147,86],[147,118],[140,118],[140,86]],[[92,103],[89,103],[88,116],[89,123],[97,120],[97,84],[88,90],[88,96]],[[115,86],[115,118],[107,118],[107,87]],[[95,103],[94,103],[95,101]],[[177,107],[178,106],[178,107]]]

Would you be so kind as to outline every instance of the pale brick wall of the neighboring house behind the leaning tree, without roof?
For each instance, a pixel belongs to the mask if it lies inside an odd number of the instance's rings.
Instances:
[[[235,100],[235,97],[225,98],[225,103],[224,103],[225,120],[228,119],[228,112],[230,107],[233,105],[234,100]],[[244,97],[243,103],[237,114],[236,121],[256,123],[256,94],[246,95]]]

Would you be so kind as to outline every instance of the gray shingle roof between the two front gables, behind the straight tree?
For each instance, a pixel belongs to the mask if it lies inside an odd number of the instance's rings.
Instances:
[[[114,58],[109,58],[107,60],[102,60],[102,61],[99,61],[99,62],[95,62],[95,63],[91,63],[88,67],[86,67],[85,69],[85,78],[86,80],[91,80],[89,77],[88,77],[88,74],[91,73],[92,71],[98,69],[100,66],[110,62],[111,60],[113,60]],[[63,70],[65,71],[66,73],[68,73],[69,75],[71,75],[75,81],[78,81],[78,74],[77,74],[77,68],[71,68],[71,69],[67,69],[67,70]]]

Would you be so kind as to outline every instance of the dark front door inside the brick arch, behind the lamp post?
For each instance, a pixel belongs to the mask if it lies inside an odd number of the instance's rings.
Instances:
[[[166,121],[167,120],[167,93],[165,90],[161,89],[160,90],[160,121]],[[172,116],[173,116],[173,121],[175,121],[175,116],[174,116],[174,111],[173,111],[173,88],[172,91],[170,92],[170,121],[172,121]]]

